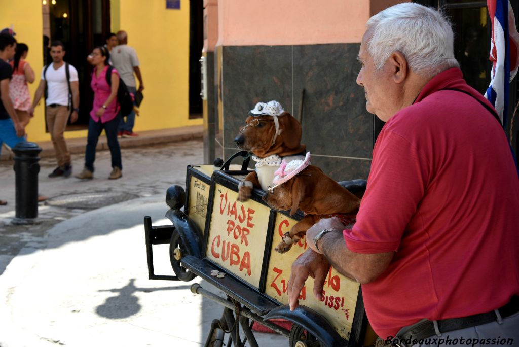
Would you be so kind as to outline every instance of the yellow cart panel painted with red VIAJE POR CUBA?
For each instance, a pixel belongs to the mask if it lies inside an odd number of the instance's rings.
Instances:
[[[215,184],[207,258],[259,288],[270,209]]]

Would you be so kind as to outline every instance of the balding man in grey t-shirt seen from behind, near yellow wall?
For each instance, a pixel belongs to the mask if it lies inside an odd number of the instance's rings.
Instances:
[[[111,59],[114,68],[117,69],[122,81],[125,82],[128,90],[135,95],[137,90],[142,91],[144,84],[142,83],[141,69],[139,68],[139,58],[137,58],[137,52],[133,47],[127,45],[128,34],[126,31],[117,32],[117,40],[119,45],[115,46],[111,52]],[[139,89],[136,88],[135,77],[133,73],[139,79]],[[121,117],[121,123],[119,124],[118,137],[135,137],[138,136],[133,132],[133,125],[135,124],[135,112],[132,112],[126,117],[126,121]]]

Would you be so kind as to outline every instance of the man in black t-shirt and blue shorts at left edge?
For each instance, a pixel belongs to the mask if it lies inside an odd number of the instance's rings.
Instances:
[[[0,34],[0,152],[2,143],[9,148],[25,141],[25,126],[20,122],[9,97],[9,81],[12,76],[11,65],[7,62],[15,56],[16,39],[9,34]],[[6,205],[0,200],[0,205]]]

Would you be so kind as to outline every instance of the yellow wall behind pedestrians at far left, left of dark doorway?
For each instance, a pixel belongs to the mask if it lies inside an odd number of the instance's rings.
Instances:
[[[39,83],[39,74],[43,69],[43,19],[41,0],[2,1],[0,6],[0,30],[10,27],[16,32],[16,40],[29,46],[27,61],[36,73],[36,81],[29,85],[31,96]],[[29,141],[38,142],[50,140],[45,132],[45,115],[41,106],[36,108],[34,118],[25,129]],[[68,134],[67,134],[68,135]]]

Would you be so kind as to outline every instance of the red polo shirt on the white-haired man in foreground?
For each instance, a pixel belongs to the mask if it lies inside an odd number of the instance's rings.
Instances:
[[[519,294],[519,178],[489,103],[459,69],[429,81],[386,123],[373,150],[349,249],[397,251],[362,286],[377,334],[422,318],[488,312]]]

